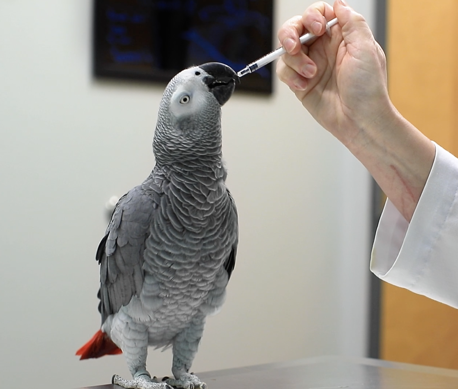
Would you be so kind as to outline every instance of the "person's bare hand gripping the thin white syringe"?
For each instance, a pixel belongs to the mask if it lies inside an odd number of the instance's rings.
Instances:
[[[338,24],[328,37],[326,21],[336,16]],[[299,42],[307,31],[321,36],[308,47]],[[363,16],[343,0],[333,7],[323,1],[311,5],[303,16],[285,22],[278,38],[287,51],[278,60],[279,79],[347,147],[366,142],[361,130],[370,131],[381,116],[393,112],[385,54]]]

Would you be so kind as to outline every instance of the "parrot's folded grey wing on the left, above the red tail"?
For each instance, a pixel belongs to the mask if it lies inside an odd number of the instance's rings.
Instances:
[[[152,193],[154,192],[154,193]],[[120,198],[106,234],[98,245],[96,259],[100,265],[98,310],[102,324],[110,314],[139,296],[143,285],[143,251],[153,218],[154,198],[160,188],[150,185],[133,188]]]

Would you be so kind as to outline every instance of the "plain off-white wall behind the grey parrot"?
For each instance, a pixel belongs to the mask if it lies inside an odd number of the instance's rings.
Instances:
[[[310,3],[277,1],[275,29]],[[373,0],[351,3],[372,21]],[[163,87],[94,81],[90,14],[90,0],[0,2],[2,387],[129,376],[122,356],[80,362],[74,353],[99,326],[104,203],[153,167]],[[240,246],[193,370],[364,355],[366,171],[277,80],[272,97],[238,94],[223,113]],[[153,374],[170,364],[170,352],[151,350]]]

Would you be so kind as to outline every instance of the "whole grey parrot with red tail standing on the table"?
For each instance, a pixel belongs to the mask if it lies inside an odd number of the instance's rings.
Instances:
[[[224,303],[234,269],[238,220],[225,185],[221,106],[238,77],[229,66],[185,69],[167,85],[159,106],[156,165],[120,198],[96,253],[101,329],[80,359],[122,352],[125,388],[205,389],[189,373],[205,320]],[[147,347],[173,347],[173,378],[151,378]]]

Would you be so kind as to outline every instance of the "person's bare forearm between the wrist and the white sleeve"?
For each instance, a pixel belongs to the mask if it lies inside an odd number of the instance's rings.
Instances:
[[[346,146],[410,222],[431,171],[434,144],[390,104]]]

